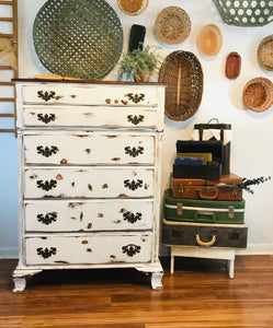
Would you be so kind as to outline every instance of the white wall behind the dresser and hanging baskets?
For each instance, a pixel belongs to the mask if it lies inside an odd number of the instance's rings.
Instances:
[[[32,25],[45,0],[20,0],[19,42],[20,77],[48,73],[39,63],[32,42]],[[161,46],[163,57],[174,50],[194,52],[204,71],[204,94],[197,113],[191,119],[174,122],[166,118],[163,138],[162,192],[169,186],[169,176],[178,139],[189,139],[193,125],[207,122],[216,117],[220,122],[232,125],[231,171],[247,178],[272,176],[273,178],[273,107],[257,114],[243,107],[242,89],[255,77],[273,80],[273,72],[263,70],[257,61],[260,40],[273,33],[273,23],[263,27],[236,27],[223,23],[212,0],[150,0],[147,10],[138,16],[127,16],[118,10],[116,0],[107,0],[121,17],[124,28],[124,51],[127,50],[132,24],[147,28],[145,43]],[[166,7],[179,5],[191,17],[192,31],[186,40],[178,46],[161,44],[155,35],[155,20]],[[198,31],[208,23],[217,24],[223,33],[223,47],[215,58],[204,57],[196,46]],[[225,61],[230,51],[242,58],[241,74],[236,81],[225,77]],[[104,79],[116,80],[117,67]],[[157,77],[153,77],[153,81]],[[18,254],[18,160],[16,140],[12,134],[0,134],[0,256]],[[246,222],[249,225],[249,246],[242,254],[273,254],[273,180],[254,186],[254,195],[244,192]],[[164,251],[164,248],[162,248]]]

